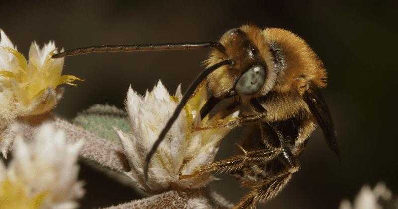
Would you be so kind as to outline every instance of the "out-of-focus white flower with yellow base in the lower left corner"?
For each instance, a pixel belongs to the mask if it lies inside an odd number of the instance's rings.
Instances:
[[[76,208],[84,194],[77,181],[82,145],[67,144],[65,133],[49,123],[29,144],[17,137],[8,168],[0,160],[0,208]]]

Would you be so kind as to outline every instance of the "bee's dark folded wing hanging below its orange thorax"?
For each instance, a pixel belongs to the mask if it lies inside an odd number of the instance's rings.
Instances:
[[[339,148],[337,145],[337,133],[334,128],[332,116],[330,115],[329,107],[323,99],[319,89],[317,87],[310,86],[308,91],[304,93],[304,100],[308,104],[312,114],[315,116],[319,126],[322,128],[327,145],[340,159]]]

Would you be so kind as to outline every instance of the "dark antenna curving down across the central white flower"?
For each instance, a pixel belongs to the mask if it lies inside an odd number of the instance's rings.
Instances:
[[[149,168],[149,163],[151,162],[152,156],[155,154],[156,150],[158,149],[160,143],[163,141],[165,138],[167,132],[170,130],[171,126],[173,125],[174,121],[176,121],[178,115],[180,114],[181,110],[184,108],[185,104],[187,104],[188,100],[190,99],[191,95],[195,92],[196,88],[199,86],[199,84],[207,78],[207,76],[218,69],[221,66],[224,65],[232,65],[232,60],[224,60],[222,62],[219,62],[217,64],[214,64],[210,67],[208,67],[206,70],[202,71],[199,76],[191,83],[191,85],[188,87],[187,91],[184,93],[183,98],[181,98],[180,103],[177,105],[176,109],[173,112],[173,115],[170,117],[169,121],[167,121],[165,127],[163,128],[162,132],[160,132],[158,139],[155,141],[155,143],[152,145],[151,150],[149,151],[148,155],[146,156],[145,159],[145,167],[144,167],[144,176],[145,176],[145,181],[148,180],[148,168]]]

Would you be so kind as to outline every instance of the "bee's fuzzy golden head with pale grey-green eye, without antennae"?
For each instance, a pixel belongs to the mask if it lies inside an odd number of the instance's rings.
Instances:
[[[269,56],[269,47],[263,40],[262,30],[250,26],[231,29],[221,37],[220,43],[225,46],[225,53],[214,51],[209,61],[212,64],[231,59],[234,64],[209,75],[209,87],[215,97],[233,94],[255,96],[265,94],[272,88],[274,79],[268,78],[272,76],[273,69],[267,61],[273,61],[264,59]],[[267,82],[271,82],[271,87]]]

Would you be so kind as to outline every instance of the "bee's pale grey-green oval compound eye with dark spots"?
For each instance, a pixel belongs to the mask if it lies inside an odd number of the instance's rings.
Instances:
[[[252,95],[258,92],[265,82],[265,70],[261,65],[255,65],[247,70],[236,83],[238,94]]]

